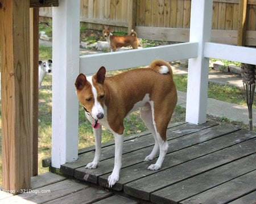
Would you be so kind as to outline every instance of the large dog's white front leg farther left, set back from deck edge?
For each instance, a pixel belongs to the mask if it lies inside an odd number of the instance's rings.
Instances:
[[[100,161],[101,156],[101,134],[102,134],[102,127],[100,125],[99,128],[93,128],[93,135],[95,139],[95,155],[92,162],[88,163],[85,168],[97,168],[98,162]]]

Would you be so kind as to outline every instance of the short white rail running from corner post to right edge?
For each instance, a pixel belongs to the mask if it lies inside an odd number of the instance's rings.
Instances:
[[[256,65],[256,49],[244,46],[206,42],[204,57],[226,59]]]

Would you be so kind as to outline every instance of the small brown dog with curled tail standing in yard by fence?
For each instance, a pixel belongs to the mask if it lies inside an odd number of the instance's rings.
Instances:
[[[133,49],[138,49],[139,39],[137,33],[134,30],[131,30],[130,35],[127,36],[116,36],[111,32],[111,27],[102,27],[102,33],[106,37],[106,40],[109,43],[110,48],[115,52],[117,48],[122,46],[131,45]]]

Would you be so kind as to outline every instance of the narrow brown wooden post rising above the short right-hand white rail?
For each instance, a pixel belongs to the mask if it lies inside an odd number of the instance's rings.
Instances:
[[[240,0],[238,13],[237,45],[245,46],[247,0]]]

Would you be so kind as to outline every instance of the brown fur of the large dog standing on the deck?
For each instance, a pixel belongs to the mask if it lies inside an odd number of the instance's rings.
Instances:
[[[162,65],[168,67],[167,74],[158,73]],[[151,63],[150,68],[133,69],[106,78],[102,69],[105,68],[101,67],[93,76],[93,84],[100,93],[98,96],[104,94],[104,105],[108,107],[107,119],[110,128],[115,133],[123,134],[123,119],[133,109],[135,103],[149,94],[150,100],[154,101],[156,129],[163,141],[166,141],[167,126],[177,103],[177,91],[172,79],[171,66],[162,60],[156,60]],[[104,83],[101,83],[103,78]],[[88,86],[79,75],[76,80],[77,96],[80,103],[90,112],[86,106],[86,98],[90,95]]]

